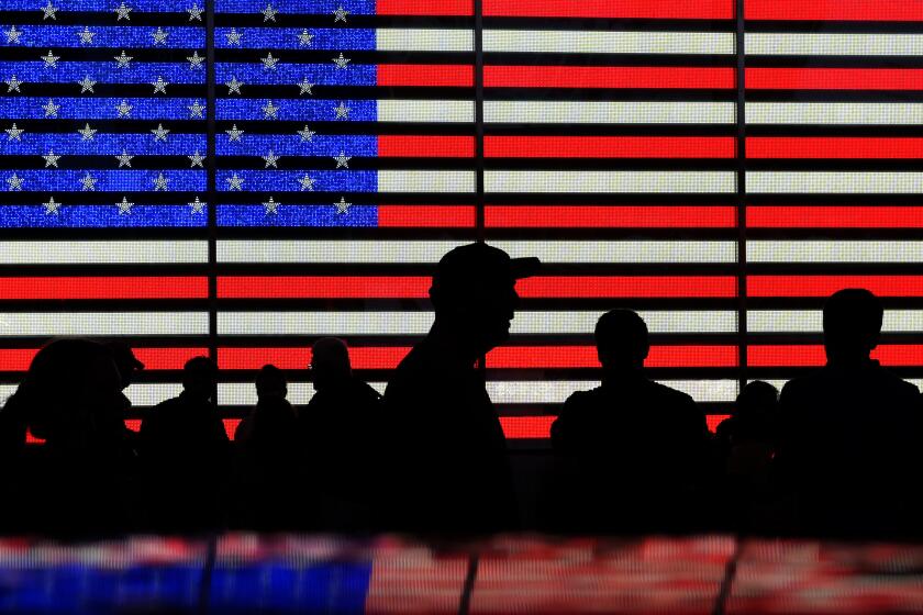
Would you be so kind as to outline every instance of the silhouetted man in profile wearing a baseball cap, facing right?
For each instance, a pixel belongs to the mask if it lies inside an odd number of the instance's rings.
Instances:
[[[440,260],[430,288],[433,325],[385,391],[396,467],[380,484],[391,494],[390,525],[463,534],[516,526],[507,443],[475,362],[509,338],[515,281],[538,266],[486,244]]]

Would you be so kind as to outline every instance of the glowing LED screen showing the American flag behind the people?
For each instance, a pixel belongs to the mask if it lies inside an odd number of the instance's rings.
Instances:
[[[0,392],[56,335],[132,342],[134,420],[200,354],[229,427],[266,362],[305,403],[326,335],[383,390],[477,238],[545,264],[486,359],[511,438],[615,306],[712,424],[823,364],[839,288],[923,376],[923,8],[736,4],[0,0]]]

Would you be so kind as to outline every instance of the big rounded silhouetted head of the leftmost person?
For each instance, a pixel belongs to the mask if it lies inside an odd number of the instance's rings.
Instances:
[[[89,339],[55,339],[32,359],[8,403],[19,406],[38,437],[84,437],[122,407],[112,353]]]

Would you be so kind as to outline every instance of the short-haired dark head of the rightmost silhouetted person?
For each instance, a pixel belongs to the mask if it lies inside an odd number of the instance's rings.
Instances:
[[[824,304],[824,347],[830,362],[861,362],[878,346],[885,310],[865,289],[837,291]]]

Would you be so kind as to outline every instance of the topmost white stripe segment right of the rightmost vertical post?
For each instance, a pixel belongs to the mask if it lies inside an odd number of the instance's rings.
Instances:
[[[916,56],[920,34],[830,34],[760,32],[746,35],[747,55]]]

